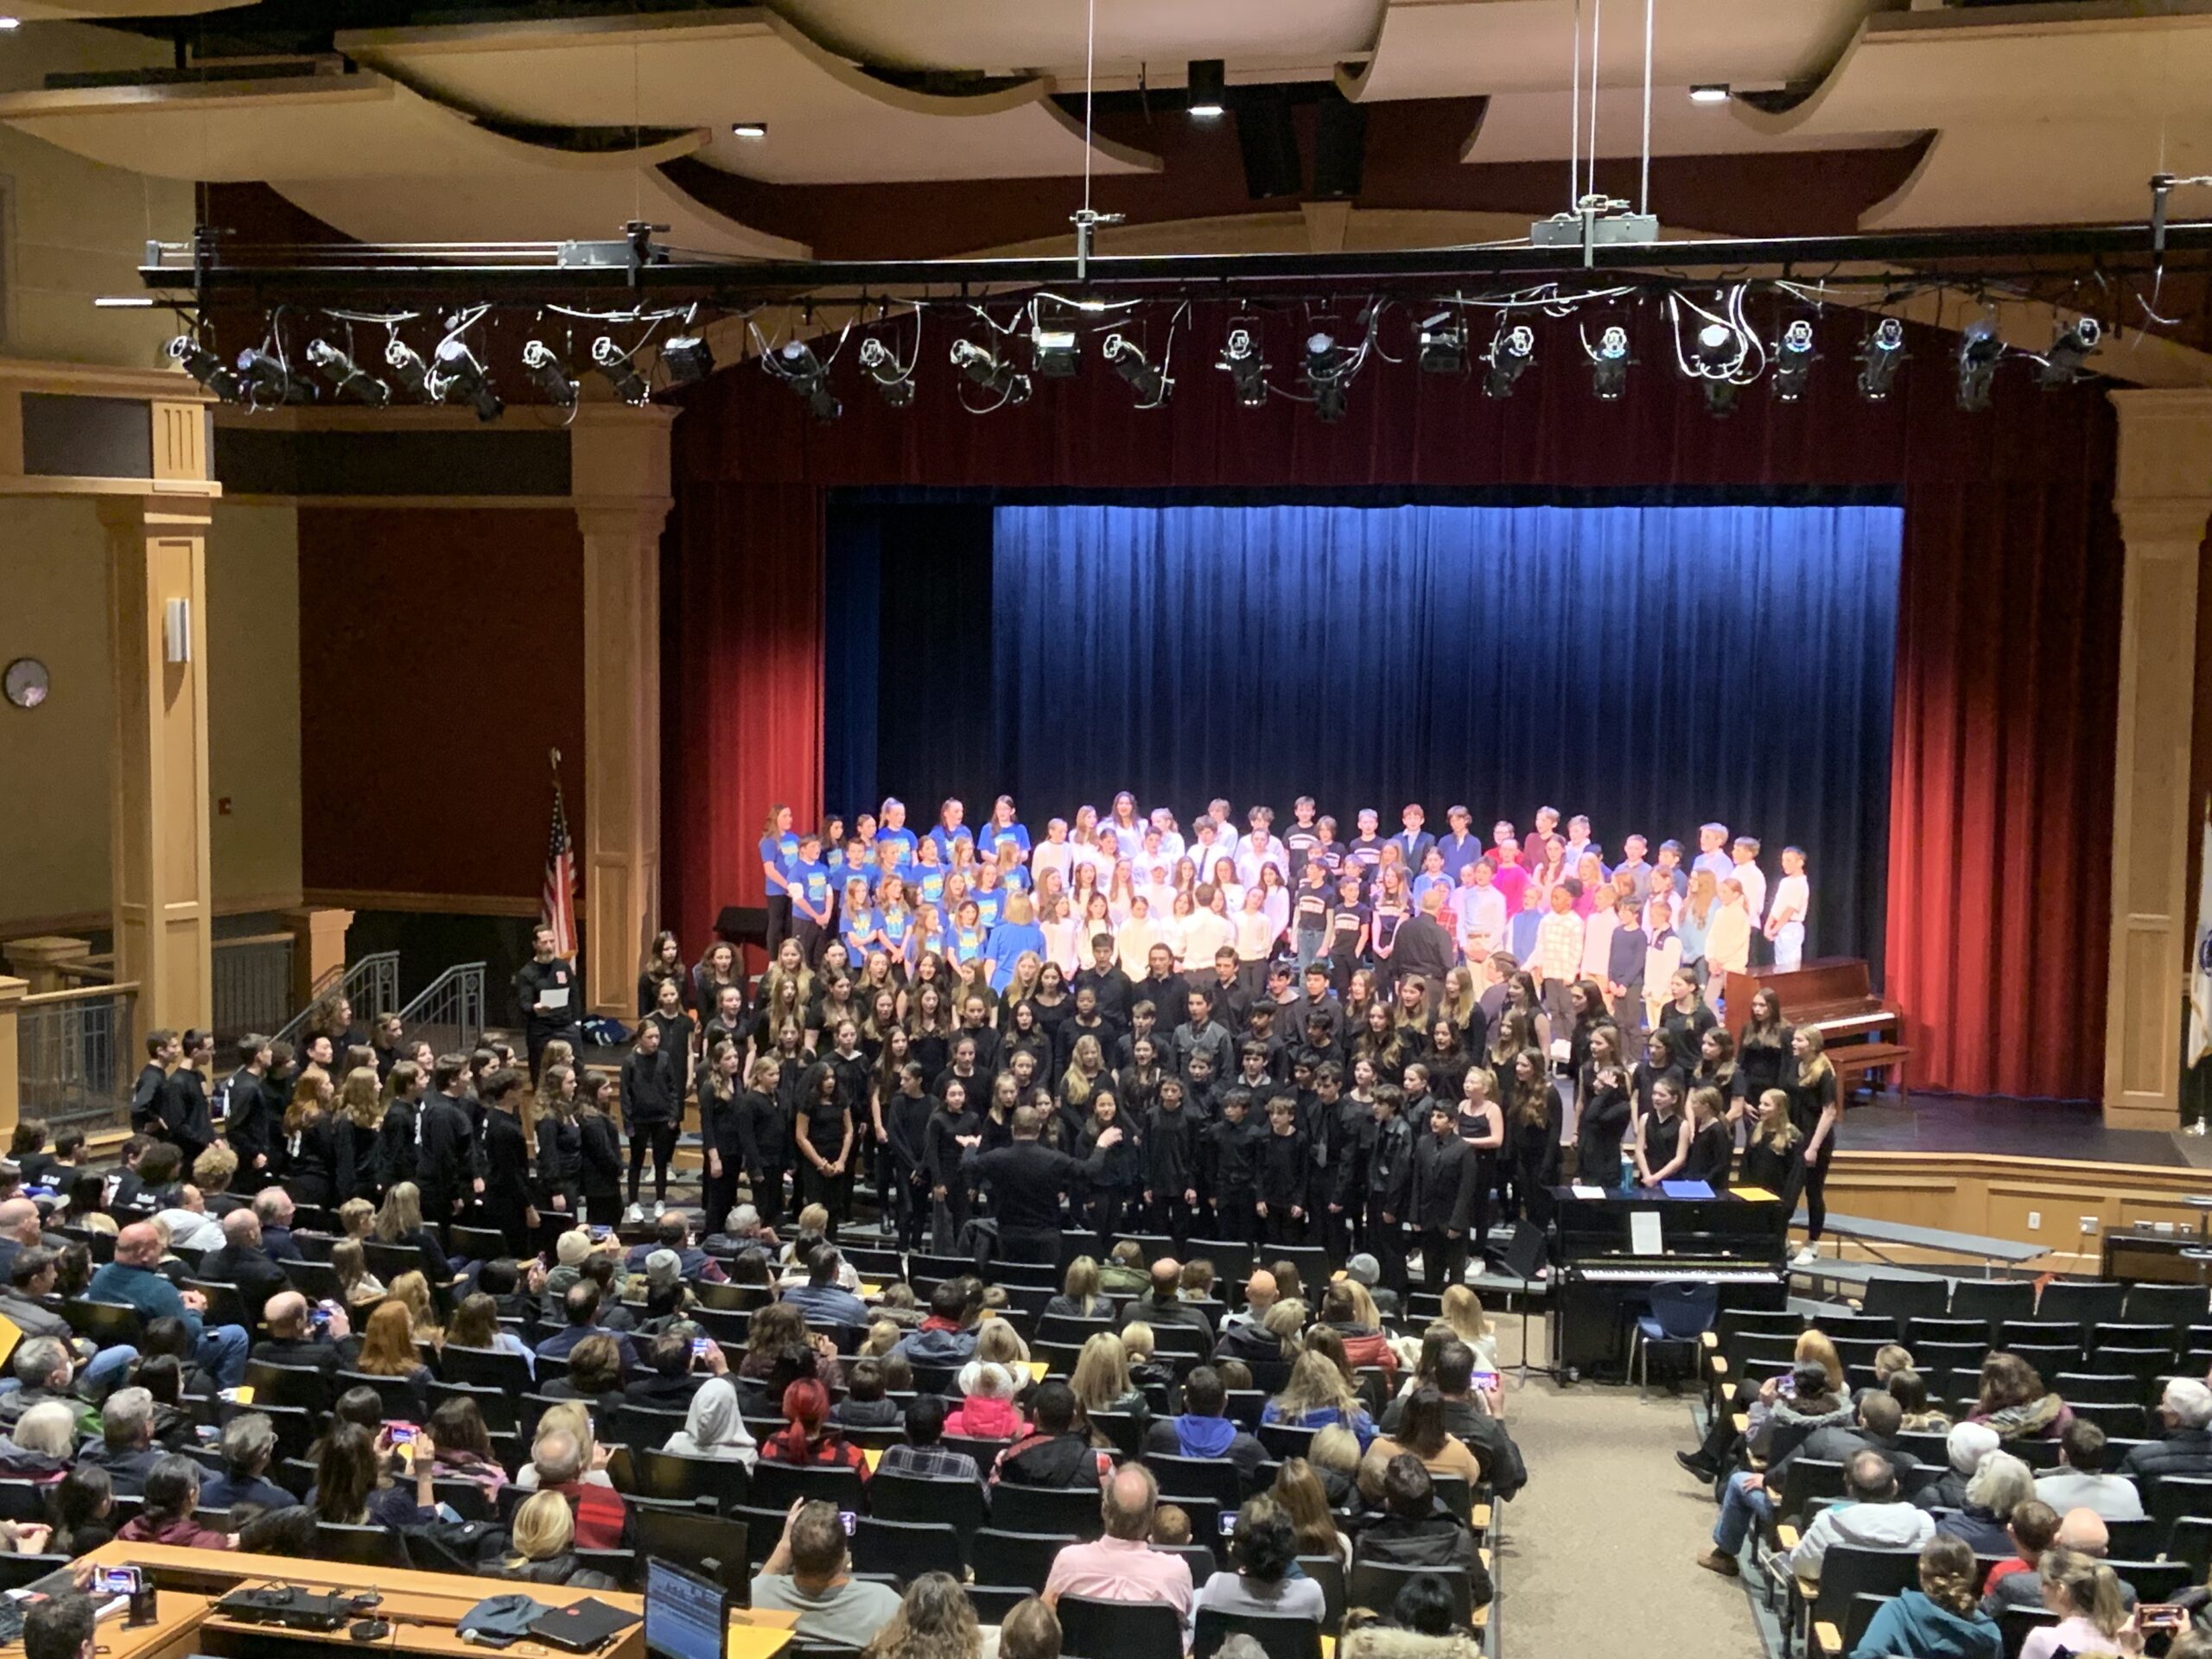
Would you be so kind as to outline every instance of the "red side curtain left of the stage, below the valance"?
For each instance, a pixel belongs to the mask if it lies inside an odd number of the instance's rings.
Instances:
[[[661,542],[661,911],[697,953],[759,905],[761,825],[821,816],[823,493],[679,491]]]

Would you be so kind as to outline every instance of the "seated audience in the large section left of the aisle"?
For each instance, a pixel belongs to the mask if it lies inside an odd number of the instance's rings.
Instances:
[[[265,1048],[252,1051],[248,1075],[265,1075]],[[414,1064],[394,1062],[394,1075]],[[564,1064],[549,1062],[546,1075]],[[434,1062],[440,1084],[469,1086],[471,1066],[445,1073],[447,1062]],[[478,1086],[498,1115],[520,1073],[493,1064]],[[405,1091],[389,1108],[403,1128],[418,1104]],[[232,1091],[230,1121],[250,1110]],[[465,1104],[453,1110],[467,1121]],[[754,1606],[794,1610],[803,1641],[940,1659],[980,1655],[989,1639],[1046,1659],[1062,1597],[1166,1604],[1186,1630],[1208,1608],[1318,1621],[1323,1590],[1301,1566],[1318,1555],[1338,1568],[1429,1568],[1391,1606],[1347,1619],[1354,1655],[1473,1652],[1458,1608],[1486,1604],[1491,1579],[1464,1509],[1436,1482],[1451,1475],[1504,1500],[1526,1469],[1498,1416],[1493,1336],[1467,1285],[1451,1285],[1422,1327],[1402,1318],[1367,1254],[1312,1290],[1287,1259],[1230,1287],[1203,1259],[1146,1263],[1121,1241],[1104,1265],[1077,1256],[1066,1267],[1044,1318],[1095,1327],[1066,1376],[1040,1378],[1018,1325],[1000,1316],[1002,1287],[971,1274],[936,1283],[927,1305],[902,1281],[863,1298],[821,1206],[805,1208],[790,1237],[741,1203],[706,1241],[684,1210],[664,1210],[633,1223],[628,1239],[577,1219],[544,1254],[460,1261],[431,1223],[420,1179],[392,1181],[374,1203],[349,1188],[365,1170],[394,1168],[385,1128],[363,1126],[361,1157],[338,1159],[345,1179],[294,1190],[292,1150],[285,1179],[250,1194],[230,1190],[241,1150],[221,1141],[195,1157],[195,1181],[184,1183],[170,1141],[133,1137],[113,1166],[80,1168],[75,1137],[49,1150],[44,1124],[20,1128],[13,1161],[0,1164],[0,1314],[24,1332],[0,1387],[0,1475],[44,1486],[49,1522],[0,1524],[0,1546],[77,1557],[124,1540],[312,1557],[323,1524],[380,1526],[460,1571],[606,1586],[577,1551],[635,1544],[635,1504],[617,1489],[626,1462],[608,1429],[613,1411],[648,1407],[681,1411],[684,1425],[655,1449],[748,1471],[783,1462],[847,1467],[863,1482],[973,1482],[984,1502],[1006,1486],[1097,1491],[1102,1537],[1068,1542],[1042,1595],[991,1632],[945,1575],[916,1577],[905,1595],[854,1577],[838,1511],[794,1504],[750,1590]],[[1004,1155],[1018,1159],[1035,1128],[1018,1121]],[[276,1157],[265,1148],[257,1175]],[[469,1181],[491,1177],[471,1170],[484,1166],[440,1170],[440,1192],[460,1203]],[[420,1265],[380,1283],[365,1270],[367,1241],[409,1245]],[[111,1259],[95,1270],[97,1256]],[[310,1259],[332,1265],[343,1296],[310,1303],[292,1285],[285,1263]],[[246,1325],[210,1325],[204,1294],[184,1281],[232,1287]],[[699,1287],[721,1283],[761,1298],[743,1347],[712,1340],[695,1318]],[[135,1340],[95,1347],[75,1336],[62,1314],[69,1298],[128,1305]],[[1183,1358],[1161,1352],[1170,1325],[1188,1338],[1175,1343]],[[473,1398],[431,1394],[460,1352],[504,1352],[529,1371],[542,1400],[526,1449],[502,1460]],[[292,1367],[307,1378],[301,1387],[319,1387],[307,1480],[281,1464],[265,1411],[232,1411],[215,1429],[217,1391],[250,1363]],[[1261,1363],[1281,1383],[1259,1420],[1314,1431],[1305,1455],[1279,1464],[1230,1416],[1232,1394],[1252,1389]],[[394,1394],[409,1402],[405,1420]],[[1130,1422],[1139,1458],[1108,1422]],[[863,1455],[860,1431],[876,1433],[880,1458]],[[1150,1455],[1234,1471],[1230,1566],[1210,1571],[1201,1548],[1192,1573],[1192,1551],[1177,1548],[1192,1542],[1190,1515],[1161,1502]],[[471,1522],[440,1502],[440,1482],[529,1495],[495,1504],[498,1524]],[[77,1659],[82,1599],[55,1597],[51,1608],[33,1655]]]

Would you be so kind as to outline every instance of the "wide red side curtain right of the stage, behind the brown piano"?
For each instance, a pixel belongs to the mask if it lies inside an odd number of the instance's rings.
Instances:
[[[1905,498],[1889,993],[1913,1077],[1931,1086],[2101,1091],[2121,568],[2110,498],[2104,471]]]

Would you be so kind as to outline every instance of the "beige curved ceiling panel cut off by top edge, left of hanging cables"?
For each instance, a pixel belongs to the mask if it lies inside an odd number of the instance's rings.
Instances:
[[[1020,73],[1084,62],[1086,0],[770,0],[807,35],[883,69]],[[1239,66],[1360,58],[1385,0],[1113,0],[1097,7],[1097,64],[1150,64],[1179,84],[1192,58]]]

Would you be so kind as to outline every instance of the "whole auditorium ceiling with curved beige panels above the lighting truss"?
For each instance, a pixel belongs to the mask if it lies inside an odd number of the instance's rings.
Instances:
[[[161,66],[9,82],[0,38],[0,119],[246,186],[210,197],[246,234],[288,221],[268,190],[363,241],[648,219],[721,254],[931,257],[1066,237],[1088,179],[1124,215],[1108,252],[1234,246],[1241,219],[1387,246],[1559,210],[1593,137],[1599,190],[1644,190],[1637,0],[1106,0],[1095,42],[1086,0],[11,9]],[[1650,62],[1672,232],[2128,221],[2152,173],[2212,170],[2212,0],[1655,0]],[[1214,64],[1208,117],[1188,84]]]

